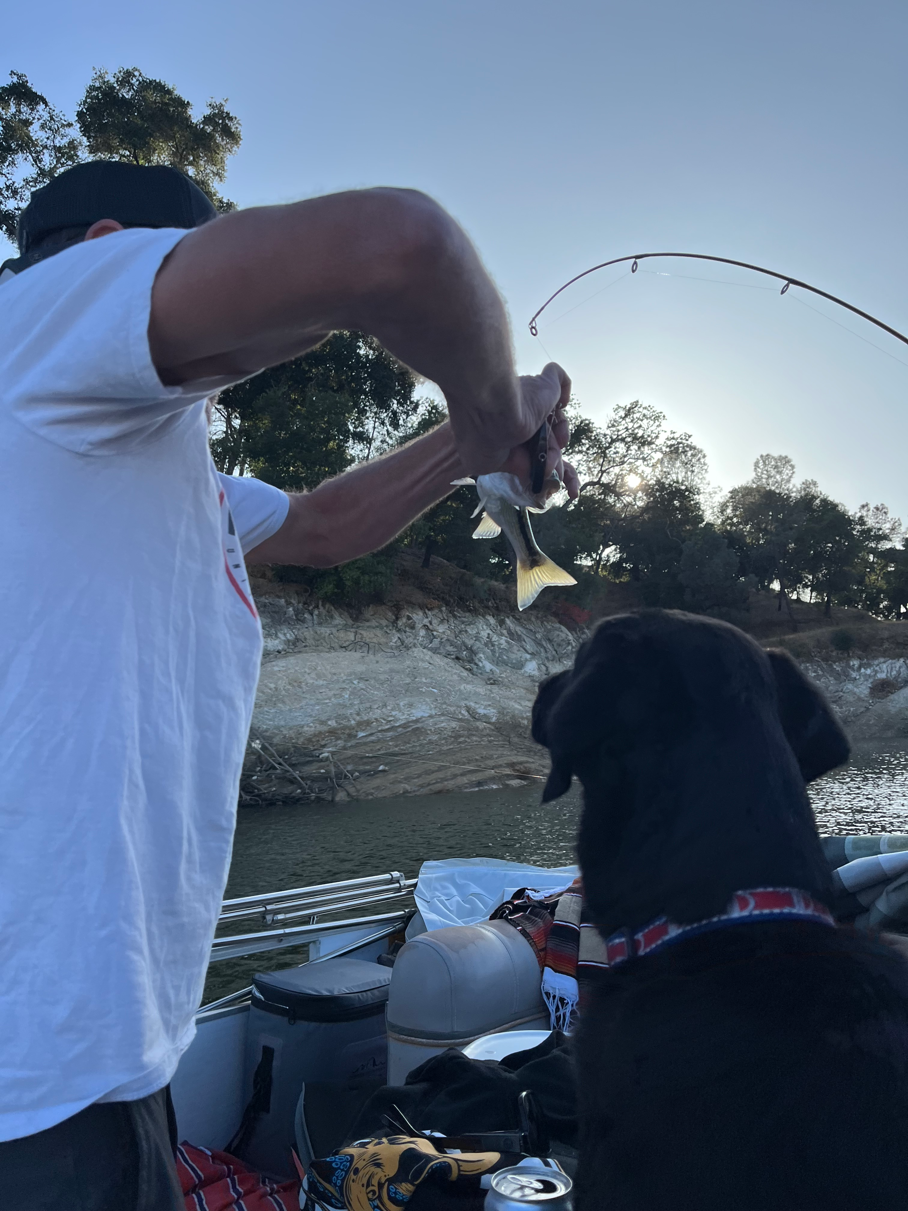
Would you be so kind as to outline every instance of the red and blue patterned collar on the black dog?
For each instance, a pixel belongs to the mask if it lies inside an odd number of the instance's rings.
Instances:
[[[752,920],[814,920],[835,928],[835,918],[826,905],[821,905],[806,891],[798,888],[753,888],[749,891],[736,891],[726,911],[707,920],[678,925],[667,917],[656,917],[636,934],[619,930],[605,942],[607,963],[615,968],[634,955],[651,954],[682,937]]]

